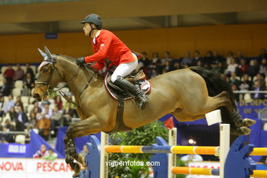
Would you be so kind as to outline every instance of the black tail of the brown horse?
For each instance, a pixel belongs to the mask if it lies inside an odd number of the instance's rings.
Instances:
[[[235,110],[237,110],[233,90],[231,90],[231,85],[227,81],[225,81],[225,79],[220,77],[218,73],[209,71],[206,68],[199,66],[192,66],[190,67],[190,70],[194,73],[198,73],[199,75],[201,75],[201,77],[203,77],[207,86],[209,97],[214,97],[220,92],[227,91],[233,107],[235,108]],[[223,123],[228,123],[231,125],[231,127],[236,127],[227,108],[223,106],[219,107],[218,109],[220,109]],[[237,137],[238,136],[231,135],[231,142],[236,140]]]

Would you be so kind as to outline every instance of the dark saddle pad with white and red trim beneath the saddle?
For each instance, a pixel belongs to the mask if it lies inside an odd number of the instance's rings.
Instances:
[[[132,98],[133,98],[133,97],[132,97],[130,94],[128,94],[127,92],[122,92],[122,91],[117,90],[116,88],[113,88],[112,86],[110,86],[109,82],[111,82],[111,81],[108,81],[108,80],[110,80],[110,77],[108,77],[108,74],[106,74],[105,77],[104,77],[105,88],[107,89],[107,92],[109,92],[110,95],[111,95],[114,99],[118,100],[118,95],[119,95],[119,94],[123,94],[123,98],[124,98],[124,100],[132,99]],[[149,93],[150,90],[151,90],[151,84],[150,84],[150,82],[147,81],[146,79],[144,79],[144,80],[138,80],[138,82],[136,82],[136,87],[139,88],[139,89],[141,88],[141,90],[142,90],[142,92],[143,92],[144,94]]]

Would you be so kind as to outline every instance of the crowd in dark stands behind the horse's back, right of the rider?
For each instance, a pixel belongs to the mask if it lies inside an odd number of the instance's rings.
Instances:
[[[217,51],[207,51],[201,55],[199,51],[186,52],[183,58],[171,58],[168,51],[164,53],[164,58],[159,58],[158,53],[153,53],[152,58],[148,58],[147,53],[142,53],[138,63],[138,70],[142,69],[147,78],[175,71],[190,66],[201,66],[218,73],[223,79],[229,81],[233,90],[266,90],[267,80],[267,53],[266,49],[261,49],[260,54],[255,58],[248,58],[238,52],[234,55],[229,51],[227,56],[219,55]],[[236,100],[244,99],[245,94],[236,94]],[[266,94],[249,94],[249,99],[265,99]]]

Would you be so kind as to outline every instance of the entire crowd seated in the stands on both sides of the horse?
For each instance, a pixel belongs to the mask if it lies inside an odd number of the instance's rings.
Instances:
[[[248,58],[238,52],[234,55],[231,51],[226,56],[216,51],[207,51],[205,55],[194,51],[186,52],[183,58],[172,58],[166,51],[160,58],[158,53],[153,53],[151,58],[147,53],[142,53],[136,71],[142,69],[147,78],[168,73],[189,66],[203,66],[212,70],[226,81],[229,81],[233,90],[266,90],[267,79],[267,53],[261,49],[258,56]],[[5,70],[3,70],[5,69]],[[104,70],[103,70],[104,71]],[[100,71],[103,73],[103,71]],[[54,95],[53,99],[43,102],[35,101],[31,92],[35,86],[38,71],[36,66],[29,63],[25,65],[8,64],[2,67],[0,74],[0,131],[25,131],[36,129],[45,140],[55,137],[60,126],[71,124],[72,118],[77,118],[74,105]],[[68,88],[66,88],[68,89]],[[69,90],[68,90],[69,92]],[[71,92],[68,94],[71,97]],[[236,94],[236,100],[244,99],[246,94]],[[249,99],[265,99],[266,94],[249,94]],[[14,142],[12,134],[0,133],[0,142]]]

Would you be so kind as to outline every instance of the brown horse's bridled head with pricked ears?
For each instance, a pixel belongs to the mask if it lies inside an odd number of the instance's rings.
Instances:
[[[60,73],[56,64],[58,62],[56,55],[50,53],[47,47],[44,47],[44,52],[38,49],[43,62],[40,64],[38,71],[38,79],[36,81],[36,86],[34,88],[33,97],[37,101],[42,101],[47,99],[47,97],[53,92],[53,88],[60,82]],[[55,72],[56,71],[56,72]]]

